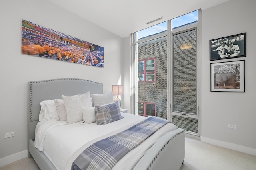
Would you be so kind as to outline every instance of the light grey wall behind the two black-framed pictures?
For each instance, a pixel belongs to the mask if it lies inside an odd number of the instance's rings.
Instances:
[[[256,154],[256,1],[230,0],[202,11],[201,140]],[[209,40],[247,33],[247,57],[209,61]],[[210,92],[210,63],[245,60],[245,93]],[[228,128],[236,125],[236,129]]]

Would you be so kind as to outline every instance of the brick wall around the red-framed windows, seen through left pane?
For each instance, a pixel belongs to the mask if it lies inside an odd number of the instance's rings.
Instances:
[[[167,119],[167,37],[138,45],[138,60],[156,58],[156,81],[138,82],[138,102],[156,104],[156,116]]]

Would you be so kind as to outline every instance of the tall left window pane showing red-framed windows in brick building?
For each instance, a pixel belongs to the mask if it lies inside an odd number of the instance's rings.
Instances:
[[[167,119],[167,32],[134,43],[134,111],[138,115],[150,115],[149,106],[154,104],[154,114]],[[145,41],[144,41],[145,40]],[[157,76],[157,80],[156,80]],[[139,101],[139,102],[138,102]],[[142,103],[142,104],[141,104]],[[153,107],[153,106],[152,106]],[[148,111],[146,111],[146,110]],[[151,111],[151,114],[153,111]]]

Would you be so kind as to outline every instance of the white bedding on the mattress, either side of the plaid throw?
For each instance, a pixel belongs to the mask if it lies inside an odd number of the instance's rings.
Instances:
[[[66,121],[39,122],[36,127],[35,147],[44,152],[46,157],[54,164],[56,169],[70,169],[74,159],[88,145],[97,140],[104,139],[123,131],[128,127],[146,119],[146,117],[121,113],[124,117],[107,125],[96,125],[96,123],[81,124],[81,122],[66,124]],[[120,129],[119,129],[119,128]],[[177,129],[172,123],[166,124],[151,137],[146,139],[141,145],[133,149],[124,156],[114,167],[113,170],[132,169],[138,160],[143,156],[154,142],[168,131]],[[40,141],[40,142],[39,142]]]

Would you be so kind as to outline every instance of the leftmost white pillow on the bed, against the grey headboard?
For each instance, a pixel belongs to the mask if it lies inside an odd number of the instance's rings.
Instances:
[[[39,121],[57,120],[58,113],[54,100],[44,100],[40,102],[40,106]]]

